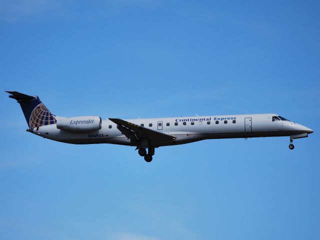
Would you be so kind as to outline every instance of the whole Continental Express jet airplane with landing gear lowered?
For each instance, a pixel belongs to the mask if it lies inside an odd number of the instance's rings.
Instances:
[[[274,113],[106,120],[100,116],[61,117],[52,114],[38,96],[6,92],[20,104],[28,132],[72,144],[136,146],[146,162],[152,160],[159,146],[204,139],[290,136],[289,148],[293,149],[293,139],[313,132]]]

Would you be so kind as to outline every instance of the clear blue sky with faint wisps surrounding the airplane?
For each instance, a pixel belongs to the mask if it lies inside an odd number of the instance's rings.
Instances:
[[[0,94],[0,239],[319,239],[318,1],[0,1],[4,90],[56,115],[275,112],[314,130],[160,147],[25,132]]]

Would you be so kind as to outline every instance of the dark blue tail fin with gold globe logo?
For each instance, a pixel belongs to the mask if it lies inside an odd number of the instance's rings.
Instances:
[[[38,96],[29,96],[17,91],[6,91],[17,100],[30,129],[56,123],[54,115],[45,107]]]

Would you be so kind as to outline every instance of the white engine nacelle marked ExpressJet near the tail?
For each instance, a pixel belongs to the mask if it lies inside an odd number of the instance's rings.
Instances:
[[[76,116],[56,121],[56,128],[66,131],[96,131],[101,127],[102,120],[99,116]]]

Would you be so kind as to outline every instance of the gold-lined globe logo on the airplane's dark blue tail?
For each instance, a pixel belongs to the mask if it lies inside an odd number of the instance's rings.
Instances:
[[[31,112],[29,119],[30,128],[55,124],[56,119],[54,115],[46,108],[43,103],[38,104]]]

